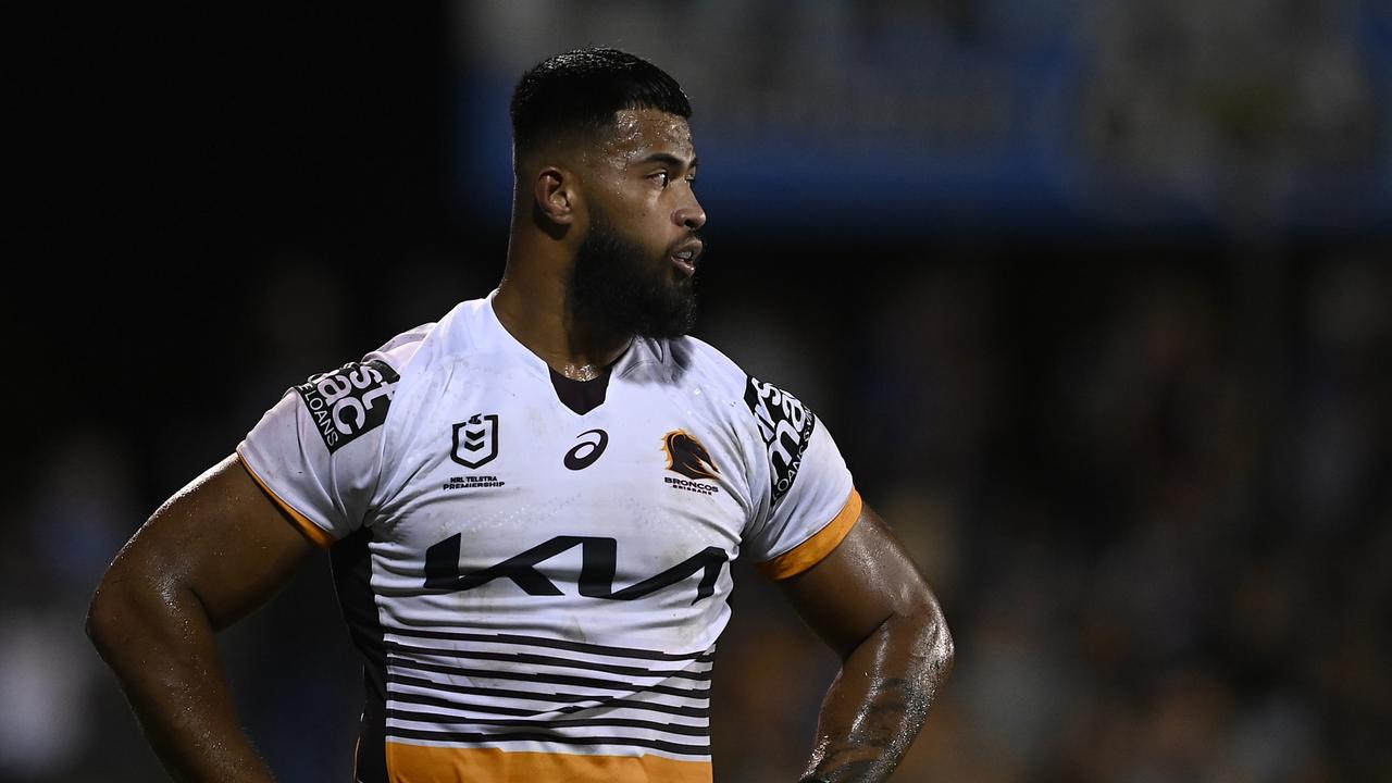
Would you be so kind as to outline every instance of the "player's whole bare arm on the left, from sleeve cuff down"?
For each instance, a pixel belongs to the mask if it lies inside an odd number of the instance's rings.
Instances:
[[[310,549],[228,457],[166,502],[102,578],[88,635],[177,780],[271,780],[237,722],[214,634]]]

